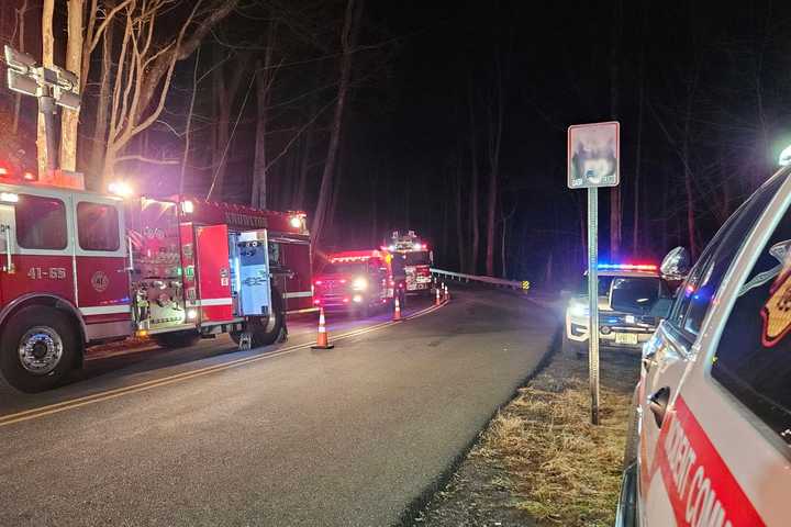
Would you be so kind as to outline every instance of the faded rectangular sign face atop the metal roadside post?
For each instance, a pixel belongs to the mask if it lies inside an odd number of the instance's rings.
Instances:
[[[621,124],[575,124],[568,128],[568,187],[616,187],[620,179]]]

